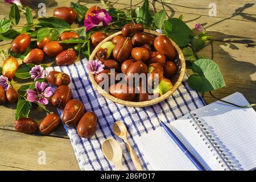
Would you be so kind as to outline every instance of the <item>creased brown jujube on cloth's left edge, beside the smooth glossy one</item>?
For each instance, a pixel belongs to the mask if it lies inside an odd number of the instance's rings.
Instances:
[[[63,111],[62,121],[68,127],[74,127],[84,114],[84,105],[79,100],[68,101]]]

